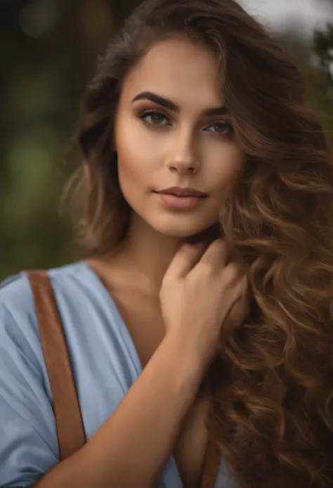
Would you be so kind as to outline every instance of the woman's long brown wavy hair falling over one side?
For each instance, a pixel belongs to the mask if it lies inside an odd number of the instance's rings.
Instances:
[[[126,237],[131,209],[112,151],[119,94],[150,46],[175,35],[219,56],[247,156],[220,219],[249,265],[254,296],[216,366],[223,457],[241,488],[332,487],[332,157],[299,70],[235,1],[147,0],[117,33],[87,88],[84,158],[67,187],[78,235],[93,255]]]

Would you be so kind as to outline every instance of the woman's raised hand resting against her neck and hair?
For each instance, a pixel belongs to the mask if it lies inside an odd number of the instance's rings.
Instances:
[[[247,275],[229,254],[222,239],[207,249],[184,244],[159,292],[166,335],[177,337],[204,369],[216,356],[221,328],[240,325],[248,313]]]

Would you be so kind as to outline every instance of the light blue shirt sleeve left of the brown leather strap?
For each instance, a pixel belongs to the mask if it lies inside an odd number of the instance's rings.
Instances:
[[[0,284],[0,488],[31,487],[59,462],[58,439],[27,277]]]

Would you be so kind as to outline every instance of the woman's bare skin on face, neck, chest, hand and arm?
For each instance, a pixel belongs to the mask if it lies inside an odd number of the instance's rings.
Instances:
[[[233,315],[241,322],[247,310],[244,273],[229,263],[228,246],[183,246],[199,234],[211,241],[208,230],[244,165],[228,116],[204,115],[223,106],[217,75],[206,47],[169,39],[152,47],[124,83],[114,144],[131,228],[121,249],[90,264],[110,289],[144,370],[86,446],[38,488],[150,488],[171,453],[184,487],[198,487],[210,401],[202,382],[221,324]],[[179,110],[133,101],[143,92]],[[143,121],[151,109],[162,115]],[[171,186],[208,196],[191,211],[174,211],[153,192]]]

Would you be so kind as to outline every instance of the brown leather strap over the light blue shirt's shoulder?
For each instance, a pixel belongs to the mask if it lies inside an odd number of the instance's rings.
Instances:
[[[53,396],[60,461],[86,442],[65,334],[51,281],[43,270],[26,272],[32,287],[41,346]]]

